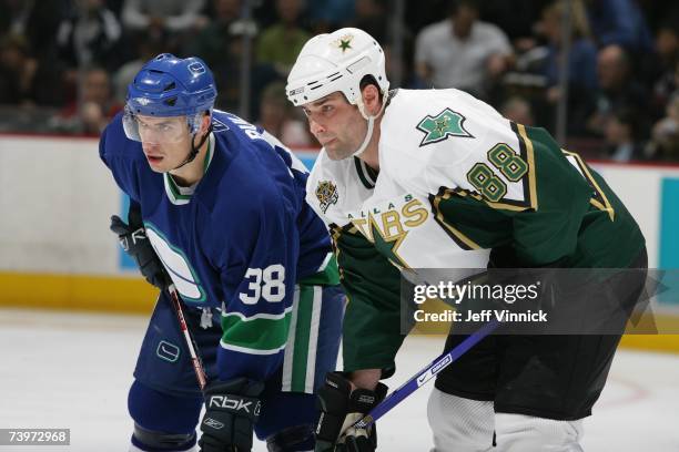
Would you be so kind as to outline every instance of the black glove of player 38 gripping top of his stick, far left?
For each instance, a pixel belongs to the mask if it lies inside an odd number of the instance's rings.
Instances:
[[[129,225],[118,215],[113,215],[111,217],[111,230],[118,234],[120,245],[134,259],[146,281],[162,290],[170,284],[170,277],[146,237],[146,229],[144,229],[141,218],[139,220],[134,219],[132,210],[130,212]]]

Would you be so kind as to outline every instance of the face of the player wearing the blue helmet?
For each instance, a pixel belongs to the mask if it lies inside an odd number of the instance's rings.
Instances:
[[[186,116],[135,117],[142,148],[151,170],[166,173],[184,162],[191,148]]]

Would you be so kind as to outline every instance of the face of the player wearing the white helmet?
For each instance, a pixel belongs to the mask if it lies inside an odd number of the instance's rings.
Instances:
[[[325,147],[331,160],[344,160],[358,150],[367,122],[356,105],[349,104],[340,92],[326,95],[302,106],[308,119],[308,129]]]

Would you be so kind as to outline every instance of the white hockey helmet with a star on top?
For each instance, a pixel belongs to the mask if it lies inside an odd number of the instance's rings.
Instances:
[[[361,97],[361,80],[373,75],[384,99],[389,89],[384,51],[363,30],[343,28],[310,39],[287,76],[285,91],[295,105],[315,102],[340,91],[367,120]]]

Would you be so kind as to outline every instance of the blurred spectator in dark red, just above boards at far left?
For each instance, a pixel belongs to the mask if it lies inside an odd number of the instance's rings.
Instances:
[[[80,103],[71,103],[53,121],[57,132],[99,135],[122,109],[113,97],[111,81],[102,68],[90,68],[82,75]]]

